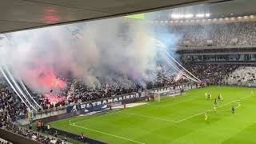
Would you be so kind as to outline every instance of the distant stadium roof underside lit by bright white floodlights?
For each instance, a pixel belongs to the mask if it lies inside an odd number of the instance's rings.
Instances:
[[[210,14],[210,18],[232,18],[245,15],[248,16],[256,14],[255,6],[255,0],[222,0],[218,2],[208,2],[202,5],[186,6],[159,11],[158,19],[154,20],[166,21],[180,19],[200,19],[195,17],[196,14],[199,16],[201,14]],[[173,16],[175,17],[172,17],[172,14],[174,14]]]

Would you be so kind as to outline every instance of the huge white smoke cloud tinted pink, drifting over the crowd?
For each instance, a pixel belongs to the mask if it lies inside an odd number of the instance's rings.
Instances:
[[[156,70],[159,60],[156,33],[144,22],[124,22],[122,18],[20,31],[1,41],[0,62],[37,91],[50,89],[39,79],[52,71],[72,74],[90,86],[100,86],[98,78],[111,79],[116,74],[124,76],[123,82],[131,78],[143,85],[154,79],[147,72]],[[171,46],[178,42],[177,37],[164,33]]]

